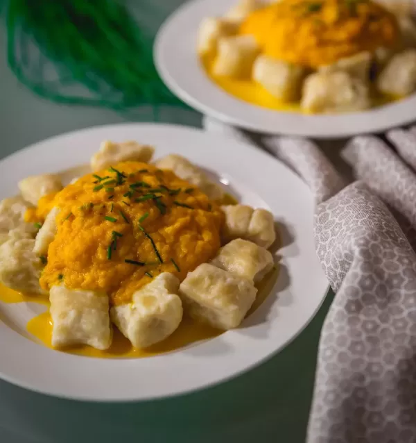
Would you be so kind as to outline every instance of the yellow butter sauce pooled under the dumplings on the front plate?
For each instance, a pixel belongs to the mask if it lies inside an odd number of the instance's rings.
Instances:
[[[256,301],[248,315],[252,314],[261,303],[267,298],[268,294],[272,291],[272,287],[275,285],[277,276],[279,272],[278,269],[270,271],[270,273],[257,285],[258,294]],[[20,303],[23,301],[33,301],[38,303],[49,304],[46,299],[40,299],[38,296],[26,296],[10,290],[3,285],[0,286],[0,300],[6,303]],[[52,348],[51,337],[52,337],[52,320],[49,311],[44,312],[37,317],[31,319],[28,322],[27,330],[29,333],[37,337],[45,346]],[[184,346],[189,346],[190,344],[200,342],[202,340],[208,340],[210,338],[217,337],[222,334],[216,328],[211,328],[205,324],[198,323],[193,319],[184,317],[179,328],[166,340],[150,346],[147,349],[135,349],[132,344],[120,333],[117,328],[114,328],[113,341],[110,349],[106,351],[99,351],[91,346],[70,346],[62,351],[67,353],[73,353],[80,356],[96,357],[96,358],[143,358],[156,356],[162,353],[167,353],[181,349]]]

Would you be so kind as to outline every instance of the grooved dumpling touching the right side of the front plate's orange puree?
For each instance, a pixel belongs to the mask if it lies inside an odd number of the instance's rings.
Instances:
[[[275,221],[270,211],[244,205],[221,206],[221,209],[225,214],[225,242],[242,238],[266,249],[275,242]]]

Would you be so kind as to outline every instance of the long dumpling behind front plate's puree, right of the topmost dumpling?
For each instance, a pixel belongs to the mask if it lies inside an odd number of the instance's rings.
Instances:
[[[207,176],[187,158],[170,154],[166,157],[159,158],[155,162],[155,166],[159,169],[170,169],[182,180],[189,181],[192,185],[198,187],[210,199],[219,200],[223,197],[224,192],[220,185],[209,181]]]

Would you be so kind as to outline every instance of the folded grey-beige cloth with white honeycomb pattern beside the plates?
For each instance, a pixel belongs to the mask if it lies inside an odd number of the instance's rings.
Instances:
[[[343,156],[359,180],[346,185],[312,142],[253,139],[207,118],[205,128],[261,144],[315,197],[317,253],[336,296],[308,442],[416,442],[416,130],[388,133],[397,153],[376,137],[354,138]]]

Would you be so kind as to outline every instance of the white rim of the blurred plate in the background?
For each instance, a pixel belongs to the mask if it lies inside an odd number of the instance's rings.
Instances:
[[[315,138],[376,133],[416,120],[416,94],[386,106],[343,115],[302,115],[254,106],[227,94],[205,74],[196,54],[196,35],[204,17],[221,16],[236,0],[192,0],[169,17],[157,35],[155,64],[180,99],[200,112],[262,133]]]

